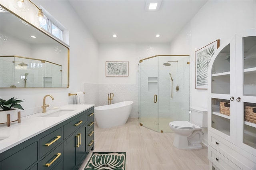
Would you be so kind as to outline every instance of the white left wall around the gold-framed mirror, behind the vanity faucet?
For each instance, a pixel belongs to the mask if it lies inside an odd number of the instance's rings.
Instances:
[[[1,3],[4,1],[1,1]],[[76,12],[71,8],[68,1],[34,1],[37,6],[45,8],[56,20],[69,31],[70,45],[70,87],[56,89],[0,89],[1,99],[18,97],[25,99],[22,107],[22,116],[42,111],[43,97],[51,94],[54,101],[46,99],[50,108],[64,104],[73,104],[74,96],[68,93],[83,91],[83,83],[98,83],[98,42],[82,24]],[[33,10],[34,8],[30,8]],[[29,14],[29,12],[27,13]],[[36,14],[36,12],[35,12]],[[86,92],[86,91],[85,91]],[[86,95],[85,95],[86,96]],[[88,101],[89,103],[89,101]]]

